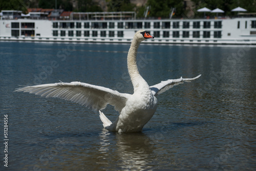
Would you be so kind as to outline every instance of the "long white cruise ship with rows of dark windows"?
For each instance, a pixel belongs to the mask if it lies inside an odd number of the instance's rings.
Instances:
[[[100,15],[95,19],[79,17],[55,20],[54,18],[10,19],[2,16],[0,40],[131,42],[134,33],[143,29],[155,37],[146,40],[148,43],[256,44],[256,17],[151,20],[122,17],[116,19],[113,15],[112,19],[106,17]]]

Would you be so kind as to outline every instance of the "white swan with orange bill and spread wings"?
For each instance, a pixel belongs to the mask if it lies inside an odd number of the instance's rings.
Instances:
[[[119,93],[108,88],[82,82],[59,82],[27,86],[18,88],[15,92],[29,92],[42,97],[58,97],[86,105],[93,110],[99,111],[100,119],[106,130],[118,133],[140,132],[157,109],[156,96],[158,94],[184,81],[190,82],[190,80],[195,80],[201,76],[198,75],[195,78],[187,79],[182,77],[168,79],[155,86],[148,86],[147,82],[139,74],[136,65],[136,55],[140,42],[147,38],[154,37],[144,30],[136,32],[127,55],[127,67],[133,83],[134,94]],[[100,111],[107,104],[115,106],[115,110],[120,114],[113,123]]]

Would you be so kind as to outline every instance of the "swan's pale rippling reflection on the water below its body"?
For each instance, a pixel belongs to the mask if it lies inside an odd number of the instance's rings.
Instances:
[[[113,135],[113,136],[111,136]],[[111,138],[112,142],[116,142],[113,146],[110,144]],[[121,169],[150,169],[152,161],[154,158],[153,154],[154,145],[151,144],[151,139],[142,133],[137,134],[114,134],[108,131],[102,131],[100,134],[100,153],[106,154],[112,151],[112,158],[116,158],[116,164]],[[110,148],[115,149],[110,149]],[[115,152],[113,152],[115,150]]]

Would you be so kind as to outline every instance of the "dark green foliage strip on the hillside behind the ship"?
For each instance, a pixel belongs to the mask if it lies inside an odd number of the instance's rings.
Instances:
[[[238,6],[247,9],[247,12],[256,12],[256,0],[191,0],[194,5],[186,6],[183,0],[147,0],[145,6],[139,7],[132,4],[130,0],[105,0],[108,11],[136,11],[138,17],[143,17],[147,6],[150,8],[148,17],[168,18],[171,8],[175,7],[174,17],[202,16],[197,12],[199,8],[207,7],[211,10],[220,8],[225,11],[224,15],[236,15],[231,9]],[[64,9],[65,11],[96,12],[102,11],[98,1],[95,0],[1,0],[0,10],[21,10],[27,13],[27,8]],[[72,4],[74,3],[74,4]],[[208,13],[207,15],[215,15]]]

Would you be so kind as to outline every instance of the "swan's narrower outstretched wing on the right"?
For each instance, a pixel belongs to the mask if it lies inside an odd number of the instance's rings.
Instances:
[[[192,80],[195,80],[195,79],[199,78],[200,76],[201,76],[201,74],[195,78],[180,77],[179,79],[168,79],[168,80],[162,81],[154,86],[151,86],[150,89],[151,89],[153,95],[157,96],[157,95],[169,90],[170,88],[173,88],[174,86],[177,86],[184,82],[191,82]]]

